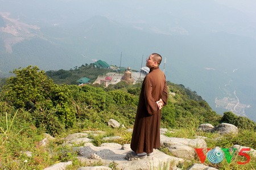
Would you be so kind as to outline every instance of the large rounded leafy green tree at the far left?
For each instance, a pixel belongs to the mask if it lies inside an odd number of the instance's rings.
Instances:
[[[6,101],[15,108],[35,109],[38,105],[46,104],[53,81],[48,79],[44,71],[37,66],[27,66],[23,69],[14,69],[12,76],[7,79],[3,92]]]

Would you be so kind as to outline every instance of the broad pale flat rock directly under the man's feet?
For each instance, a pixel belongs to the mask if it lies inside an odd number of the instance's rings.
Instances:
[[[128,148],[128,149],[126,149]],[[116,163],[118,169],[154,169],[164,166],[169,166],[171,163],[172,167],[175,167],[179,163],[183,163],[184,160],[181,158],[176,158],[174,156],[166,155],[159,150],[154,150],[152,156],[147,156],[146,159],[129,161],[124,159],[125,155],[131,151],[130,147],[121,149],[119,145],[117,146],[89,146],[83,147],[79,150],[79,157],[77,157],[81,162],[92,163],[97,162],[96,159],[90,159],[90,155],[97,154],[106,164]]]

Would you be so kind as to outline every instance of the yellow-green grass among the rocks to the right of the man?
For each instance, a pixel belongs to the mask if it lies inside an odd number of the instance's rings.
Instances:
[[[195,129],[171,129],[174,133],[166,133],[168,137],[177,137],[177,138],[190,138],[195,139],[196,136],[207,137],[205,142],[207,142],[208,148],[221,147],[221,148],[230,148],[233,145],[241,145],[247,146],[251,148],[256,148],[256,132],[250,130],[241,130],[237,135],[220,135],[218,133],[205,133],[202,131],[196,131]],[[161,151],[164,153],[171,155],[167,148],[162,148]],[[204,164],[209,165],[210,167],[214,167],[217,169],[255,169],[256,167],[256,158],[251,156],[250,162],[247,164],[238,164],[237,162],[245,162],[245,157],[238,155],[236,152],[231,160],[228,163],[225,159],[219,164],[211,164],[207,160],[205,160]],[[181,169],[186,169],[190,167],[193,163],[201,163],[200,159],[197,158],[192,162],[184,162],[184,164],[180,165]]]

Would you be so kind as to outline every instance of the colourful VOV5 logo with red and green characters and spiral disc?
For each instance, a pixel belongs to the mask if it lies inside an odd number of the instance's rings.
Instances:
[[[250,162],[250,155],[248,155],[245,151],[250,151],[251,148],[242,148],[240,152],[238,152],[238,155],[243,156],[246,158],[245,162],[238,161],[238,164],[247,164]],[[230,148],[220,148],[215,147],[213,149],[207,148],[207,154],[205,155],[203,150],[205,148],[195,148],[197,155],[199,156],[199,159],[201,160],[201,163],[205,162],[205,159],[207,158],[210,163],[217,164],[222,162],[222,160],[225,158],[226,162],[230,163],[234,153],[236,152],[237,148],[233,148],[233,152],[230,153]],[[232,150],[232,149],[231,149]]]

